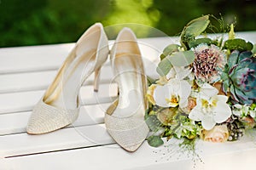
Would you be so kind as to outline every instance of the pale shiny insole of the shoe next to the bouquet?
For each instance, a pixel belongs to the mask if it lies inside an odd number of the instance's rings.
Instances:
[[[143,65],[137,54],[121,54],[113,63],[115,82],[119,84],[119,104],[113,115],[132,116],[144,113]]]

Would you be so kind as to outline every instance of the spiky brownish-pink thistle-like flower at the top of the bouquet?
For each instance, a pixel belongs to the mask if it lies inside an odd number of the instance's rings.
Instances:
[[[200,82],[213,83],[219,79],[219,69],[225,65],[224,53],[215,45],[201,44],[195,48],[193,71]]]

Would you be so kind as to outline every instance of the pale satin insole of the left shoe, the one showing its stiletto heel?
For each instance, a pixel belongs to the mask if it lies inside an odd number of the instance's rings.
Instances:
[[[65,65],[58,75],[58,85],[49,89],[49,96],[44,97],[44,102],[58,108],[74,110],[79,105],[79,89],[95,69],[96,37],[88,37],[75,48],[74,59]],[[69,56],[70,57],[70,56]]]

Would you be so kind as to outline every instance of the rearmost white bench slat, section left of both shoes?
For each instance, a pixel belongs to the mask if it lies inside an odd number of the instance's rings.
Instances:
[[[0,74],[23,71],[56,70],[74,43],[0,48]]]

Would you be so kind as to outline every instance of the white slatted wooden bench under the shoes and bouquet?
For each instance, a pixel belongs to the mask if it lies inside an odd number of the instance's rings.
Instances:
[[[239,32],[256,42],[256,31]],[[146,73],[154,71],[158,57],[177,37],[140,39]],[[113,41],[109,42],[110,45]],[[68,127],[43,135],[28,135],[26,123],[33,106],[55,77],[73,43],[20,48],[0,48],[0,170],[34,169],[248,169],[255,166],[256,144],[250,138],[225,144],[200,142],[204,163],[193,161],[174,147],[152,148],[147,142],[134,153],[122,150],[108,135],[104,111],[117,97],[111,66],[102,69],[99,92],[92,77],[81,88],[84,102],[79,119]],[[177,144],[176,144],[177,145]],[[171,151],[170,151],[171,150]]]

